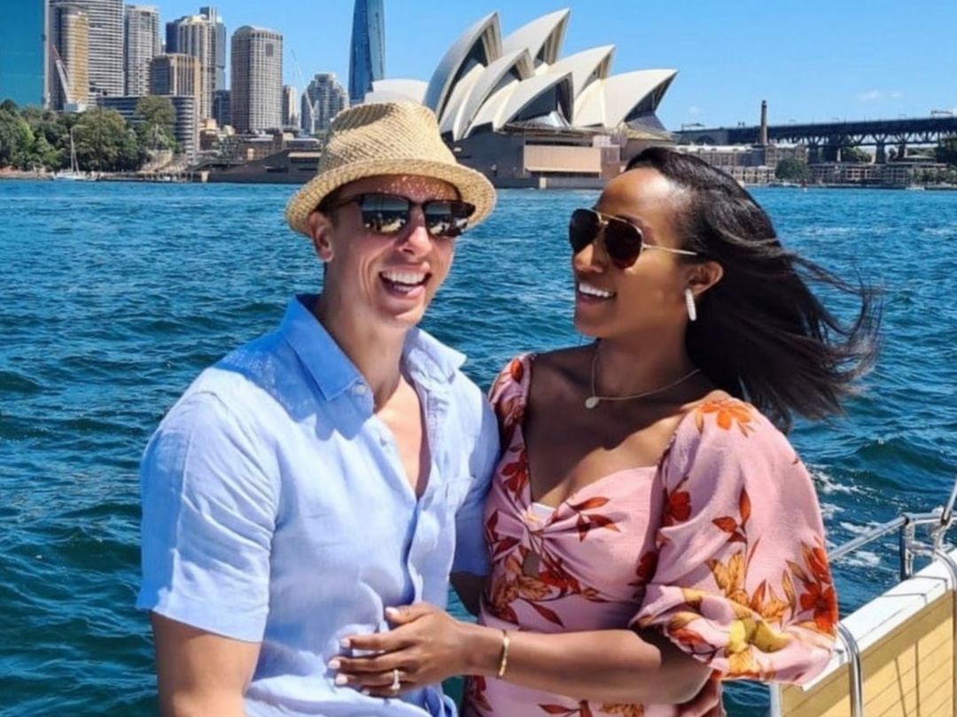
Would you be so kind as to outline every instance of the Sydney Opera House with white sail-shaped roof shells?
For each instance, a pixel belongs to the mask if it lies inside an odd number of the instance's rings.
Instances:
[[[613,45],[562,56],[569,15],[551,12],[503,38],[493,12],[456,39],[428,82],[380,79],[366,101],[428,105],[459,158],[500,185],[613,175],[637,146],[669,142],[656,110],[678,73],[614,75]]]

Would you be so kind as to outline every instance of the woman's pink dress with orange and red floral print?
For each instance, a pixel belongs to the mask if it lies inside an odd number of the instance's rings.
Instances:
[[[491,399],[503,455],[485,509],[480,621],[558,633],[653,628],[720,679],[801,682],[831,657],[837,606],[808,471],[754,407],[704,402],[657,466],[618,471],[553,510],[532,504],[523,414],[531,356]],[[674,715],[475,677],[465,715]]]

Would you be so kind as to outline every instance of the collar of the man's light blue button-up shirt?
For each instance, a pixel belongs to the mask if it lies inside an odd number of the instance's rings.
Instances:
[[[286,307],[279,331],[296,351],[323,398],[332,400],[365,379],[335,339],[307,307],[315,295],[302,294]],[[465,355],[447,347],[420,328],[412,328],[403,348],[405,368],[428,389],[448,385],[465,363]]]

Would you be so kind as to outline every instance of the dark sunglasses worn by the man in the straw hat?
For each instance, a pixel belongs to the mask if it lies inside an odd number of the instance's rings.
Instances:
[[[413,202],[412,199],[398,194],[368,193],[356,194],[329,207],[323,212],[345,207],[346,204],[358,204],[362,213],[362,223],[368,232],[392,236],[402,231],[409,223],[412,207],[421,207],[426,232],[436,239],[452,239],[465,231],[469,217],[476,208],[468,202],[456,199],[431,199],[427,202]]]

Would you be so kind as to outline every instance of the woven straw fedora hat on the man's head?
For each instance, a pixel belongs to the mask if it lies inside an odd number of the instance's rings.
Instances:
[[[346,109],[332,121],[319,172],[289,201],[286,221],[293,231],[308,236],[309,214],[329,193],[383,174],[434,177],[453,185],[462,201],[475,205],[470,227],[495,206],[492,183],[456,162],[432,110],[412,101],[371,102]]]

